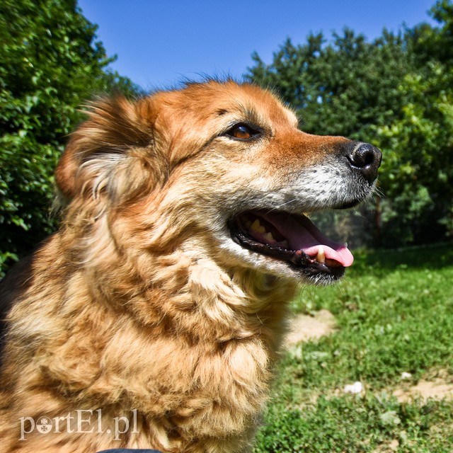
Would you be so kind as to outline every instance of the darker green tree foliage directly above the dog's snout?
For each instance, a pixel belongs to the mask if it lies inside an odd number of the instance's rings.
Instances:
[[[268,66],[254,54],[248,78],[274,88],[296,108],[307,132],[351,138],[362,132],[363,139],[364,127],[385,123],[401,102],[398,84],[411,64],[403,38],[384,30],[371,44],[345,28],[325,42],[321,33],[309,35],[305,45],[288,39]],[[373,137],[367,132],[365,138]]]

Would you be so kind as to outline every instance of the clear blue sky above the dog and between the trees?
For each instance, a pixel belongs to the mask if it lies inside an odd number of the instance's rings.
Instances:
[[[143,88],[166,88],[185,78],[234,76],[265,62],[291,38],[311,31],[331,38],[347,25],[369,40],[384,27],[397,31],[430,21],[435,0],[79,0],[112,67]]]

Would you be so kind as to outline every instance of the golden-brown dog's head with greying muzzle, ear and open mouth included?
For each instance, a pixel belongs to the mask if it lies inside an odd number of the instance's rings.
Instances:
[[[226,270],[331,282],[352,255],[305,214],[369,197],[381,153],[297,126],[270,92],[233,81],[101,101],[57,185],[70,222],[102,222],[119,255],[180,248]]]

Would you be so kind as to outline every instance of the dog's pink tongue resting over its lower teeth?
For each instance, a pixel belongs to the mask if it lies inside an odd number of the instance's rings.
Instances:
[[[293,250],[302,250],[306,255],[316,257],[319,247],[323,246],[327,259],[335,260],[345,268],[352,265],[354,257],[348,247],[326,238],[308,217],[276,212],[265,214],[264,218],[285,236]]]

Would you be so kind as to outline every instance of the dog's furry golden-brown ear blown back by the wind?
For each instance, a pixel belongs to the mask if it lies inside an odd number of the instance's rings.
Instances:
[[[133,197],[166,178],[166,157],[156,147],[150,98],[131,103],[108,98],[91,104],[88,120],[71,135],[55,171],[60,195]]]

